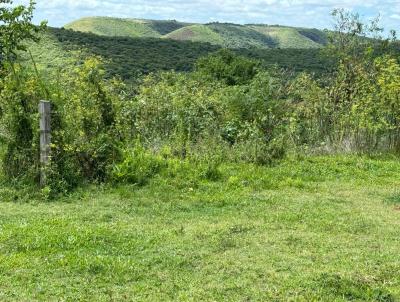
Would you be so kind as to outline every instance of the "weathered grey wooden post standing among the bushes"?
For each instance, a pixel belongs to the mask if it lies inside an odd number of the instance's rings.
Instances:
[[[51,105],[48,101],[40,101],[40,186],[47,185],[46,170],[50,162],[51,144]]]

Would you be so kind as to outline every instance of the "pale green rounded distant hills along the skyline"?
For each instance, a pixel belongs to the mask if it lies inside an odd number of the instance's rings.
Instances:
[[[189,24],[177,21],[89,17],[67,24],[65,28],[102,36],[164,38],[210,43],[228,48],[309,49],[326,44],[325,33],[317,29],[257,24]]]

